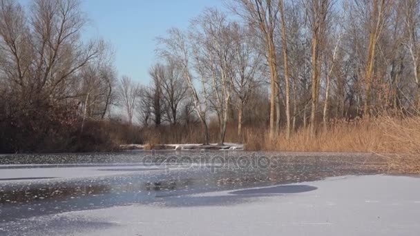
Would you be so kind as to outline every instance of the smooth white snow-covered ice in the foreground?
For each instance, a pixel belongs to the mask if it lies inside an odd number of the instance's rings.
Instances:
[[[419,186],[416,177],[333,177],[32,217],[13,227],[16,235],[419,235]]]

